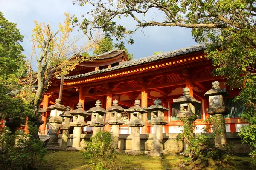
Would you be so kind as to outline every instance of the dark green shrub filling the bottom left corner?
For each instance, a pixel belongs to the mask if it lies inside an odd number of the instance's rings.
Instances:
[[[1,170],[35,170],[45,161],[44,142],[31,135],[17,131],[11,134],[8,128],[0,133]]]

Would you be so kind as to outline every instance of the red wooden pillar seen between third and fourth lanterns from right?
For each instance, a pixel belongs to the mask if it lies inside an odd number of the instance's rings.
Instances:
[[[141,85],[141,107],[148,107],[148,89],[146,85]],[[142,127],[141,133],[148,133],[148,113],[143,114],[142,120],[145,122],[145,126]],[[150,127],[149,127],[150,130]]]

